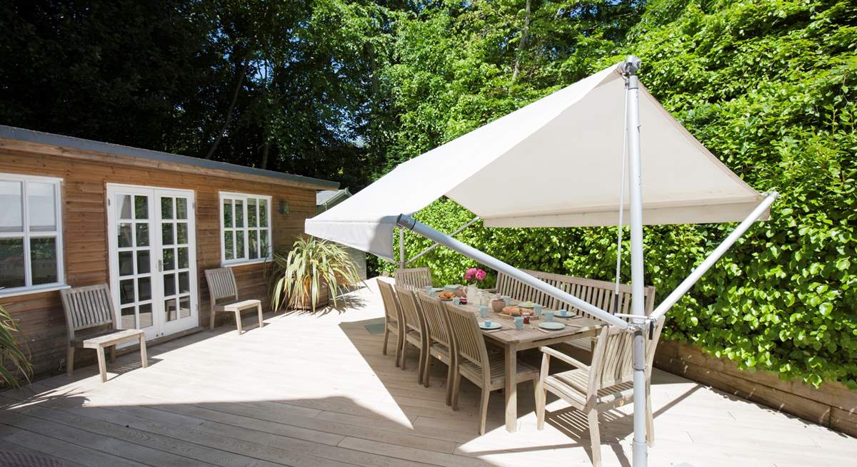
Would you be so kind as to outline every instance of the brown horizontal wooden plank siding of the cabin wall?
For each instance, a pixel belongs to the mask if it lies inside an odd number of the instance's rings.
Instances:
[[[21,151],[13,145],[0,145],[0,173],[30,174],[63,179],[63,242],[66,282],[70,286],[85,286],[109,282],[107,261],[106,184],[158,186],[195,190],[196,196],[196,261],[200,282],[200,325],[208,325],[208,289],[204,269],[220,264],[219,192],[243,192],[270,195],[272,199],[273,246],[291,245],[303,233],[303,222],[315,216],[315,189],[242,180],[210,174],[184,173],[174,169],[135,167],[117,163],[83,160],[33,152],[32,145]],[[173,167],[174,168],[174,167]],[[288,201],[290,212],[280,215],[281,199]],[[267,279],[264,266],[252,264],[235,267],[236,280],[242,298],[265,299],[267,308]],[[24,340],[33,358],[37,378],[56,374],[65,358],[66,328],[59,292],[32,293],[0,299],[12,316],[19,320]],[[218,320],[227,316],[220,314]],[[93,361],[93,352],[77,352],[80,363]],[[75,362],[78,359],[75,359]],[[76,364],[75,364],[76,366]]]

